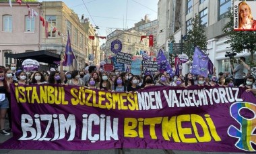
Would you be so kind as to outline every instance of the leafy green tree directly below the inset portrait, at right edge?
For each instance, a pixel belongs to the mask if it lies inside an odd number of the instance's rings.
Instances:
[[[256,31],[234,31],[234,15],[232,11],[228,13],[227,17],[230,20],[222,29],[228,35],[225,44],[230,44],[228,48],[231,48],[236,53],[247,50],[250,53],[249,65],[255,66],[256,63],[253,62],[253,55],[256,50]]]

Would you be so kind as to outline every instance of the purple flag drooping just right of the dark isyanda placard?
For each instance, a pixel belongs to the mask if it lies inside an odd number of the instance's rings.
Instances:
[[[170,76],[174,76],[174,72],[170,67],[169,61],[166,60],[166,57],[164,56],[164,52],[161,49],[158,52],[158,56],[156,57],[156,60],[158,61],[158,67],[160,72],[166,71],[167,73],[170,74]]]

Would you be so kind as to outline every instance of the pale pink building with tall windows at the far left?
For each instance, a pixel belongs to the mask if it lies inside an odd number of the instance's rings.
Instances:
[[[0,3],[0,65],[7,66],[15,61],[5,58],[5,53],[18,54],[40,50],[42,24],[39,17],[30,19],[26,4]],[[40,13],[40,3],[30,3],[30,9]]]

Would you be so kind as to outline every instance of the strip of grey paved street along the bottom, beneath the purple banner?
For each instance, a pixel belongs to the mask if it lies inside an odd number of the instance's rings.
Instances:
[[[6,121],[7,122],[7,121]],[[7,122],[5,126],[9,126]],[[0,144],[7,141],[12,137],[12,134],[9,136],[0,135]],[[0,149],[0,153],[12,153],[12,154],[215,154],[215,153],[205,153],[205,152],[193,152],[193,151],[171,151],[171,150],[162,150],[162,149],[109,149],[109,150],[94,150],[94,151],[42,151],[42,150],[11,150],[11,149]],[[222,154],[222,153],[216,153]],[[230,153],[231,154],[231,153]],[[236,153],[232,153],[236,154]],[[240,153],[241,154],[241,153]],[[243,154],[243,153],[242,153]]]

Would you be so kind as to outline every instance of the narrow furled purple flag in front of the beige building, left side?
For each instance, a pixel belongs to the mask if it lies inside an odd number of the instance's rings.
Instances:
[[[71,66],[73,64],[73,59],[74,58],[75,58],[75,56],[73,55],[73,51],[72,51],[72,48],[71,48],[69,31],[67,31],[67,45],[66,45],[66,51],[65,51],[63,66]]]

